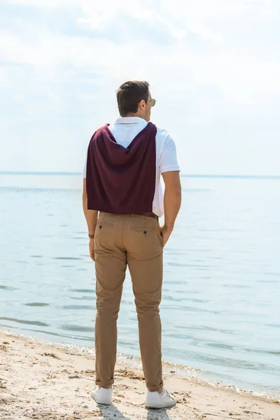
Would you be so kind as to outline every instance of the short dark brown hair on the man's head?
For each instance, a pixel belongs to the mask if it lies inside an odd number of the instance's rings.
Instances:
[[[120,116],[125,117],[128,113],[137,113],[141,99],[148,100],[148,82],[137,80],[123,83],[117,90],[118,110]]]

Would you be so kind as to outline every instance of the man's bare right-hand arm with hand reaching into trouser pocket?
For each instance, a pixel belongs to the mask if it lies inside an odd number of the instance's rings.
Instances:
[[[162,226],[163,246],[165,246],[172,234],[176,217],[181,207],[181,181],[179,174],[179,171],[163,172],[162,174],[165,182],[165,225]]]

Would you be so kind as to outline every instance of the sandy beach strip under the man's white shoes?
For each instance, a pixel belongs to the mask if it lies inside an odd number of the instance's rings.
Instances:
[[[279,420],[277,400],[265,400],[184,378],[169,370],[165,386],[177,400],[172,409],[145,409],[146,387],[139,366],[120,358],[113,405],[97,406],[94,356],[13,332],[0,332],[0,419],[101,420]]]

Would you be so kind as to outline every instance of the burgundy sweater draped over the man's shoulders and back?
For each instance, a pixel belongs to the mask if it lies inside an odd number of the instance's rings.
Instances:
[[[148,123],[127,148],[116,142],[109,124],[95,132],[87,151],[87,209],[113,214],[153,211],[155,135]]]

